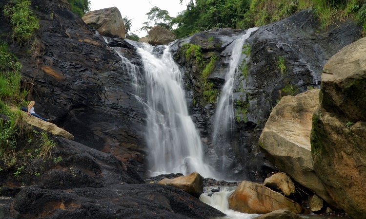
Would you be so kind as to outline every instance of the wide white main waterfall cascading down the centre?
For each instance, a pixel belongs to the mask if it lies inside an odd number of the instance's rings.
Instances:
[[[154,54],[152,46],[137,49],[145,71],[146,140],[151,175],[178,172],[186,175],[197,171],[214,178],[213,168],[203,161],[201,138],[188,115],[182,73],[169,47],[162,47],[162,55]]]

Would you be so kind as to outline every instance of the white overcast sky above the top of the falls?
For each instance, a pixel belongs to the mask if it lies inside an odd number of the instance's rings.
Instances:
[[[179,0],[91,0],[90,11],[116,6],[122,18],[127,16],[132,20],[131,32],[144,37],[147,33],[140,31],[140,28],[143,22],[149,21],[146,13],[150,12],[153,6],[167,10],[171,17],[176,17],[179,12],[187,8],[185,1],[188,0],[183,0],[183,4],[180,4]],[[153,26],[154,23],[150,22],[150,25]]]

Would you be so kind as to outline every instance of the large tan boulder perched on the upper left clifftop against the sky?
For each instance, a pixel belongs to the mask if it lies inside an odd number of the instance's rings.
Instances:
[[[86,13],[82,20],[105,37],[125,37],[121,12],[117,7],[104,8]]]

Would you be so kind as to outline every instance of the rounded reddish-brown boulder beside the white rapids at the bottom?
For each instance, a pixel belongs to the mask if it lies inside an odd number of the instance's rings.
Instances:
[[[275,210],[288,210],[300,214],[300,204],[259,183],[243,181],[228,198],[229,208],[249,214],[267,214]]]

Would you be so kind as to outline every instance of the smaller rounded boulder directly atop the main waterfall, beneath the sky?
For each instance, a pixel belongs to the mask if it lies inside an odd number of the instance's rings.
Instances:
[[[174,40],[174,34],[160,25],[151,28],[149,37],[147,37],[147,42],[153,46],[168,45],[168,43],[173,42]]]

